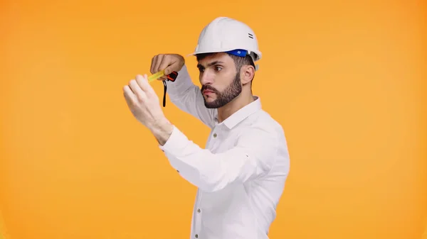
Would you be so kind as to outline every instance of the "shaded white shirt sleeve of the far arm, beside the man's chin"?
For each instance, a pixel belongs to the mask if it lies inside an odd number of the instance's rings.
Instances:
[[[172,104],[186,113],[198,118],[206,126],[214,127],[215,109],[204,106],[203,95],[200,88],[192,81],[186,65],[178,72],[174,82],[166,82],[167,94]]]

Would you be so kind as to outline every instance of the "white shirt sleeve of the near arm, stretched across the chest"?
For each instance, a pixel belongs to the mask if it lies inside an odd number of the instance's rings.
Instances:
[[[159,146],[181,177],[203,191],[218,191],[228,184],[246,182],[268,173],[275,163],[275,133],[251,128],[236,145],[221,153],[202,149],[174,126],[167,143]]]

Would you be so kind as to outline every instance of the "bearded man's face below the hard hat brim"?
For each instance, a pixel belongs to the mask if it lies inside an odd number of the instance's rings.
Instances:
[[[241,94],[240,72],[228,54],[209,55],[200,60],[197,67],[206,108],[225,106]]]

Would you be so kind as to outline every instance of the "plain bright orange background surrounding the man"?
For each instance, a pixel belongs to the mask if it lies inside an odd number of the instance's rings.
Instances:
[[[5,238],[189,238],[196,188],[132,117],[122,86],[149,73],[156,54],[192,52],[217,16],[258,35],[253,90],[289,142],[270,238],[412,239],[427,229],[426,1],[3,0],[0,9]],[[186,62],[199,84],[194,57]],[[164,111],[204,146],[208,128],[169,100]]]

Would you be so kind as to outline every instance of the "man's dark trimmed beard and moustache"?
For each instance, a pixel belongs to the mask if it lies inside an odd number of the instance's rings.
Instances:
[[[236,77],[234,77],[233,82],[231,82],[231,84],[228,85],[228,87],[221,92],[215,89],[214,87],[211,87],[209,84],[206,84],[203,87],[201,87],[202,94],[205,89],[214,91],[214,93],[216,94],[216,100],[212,102],[206,102],[206,99],[203,98],[206,108],[218,109],[222,106],[225,106],[230,101],[235,99],[239,94],[241,94],[242,85],[241,85],[240,74],[236,74]]]

